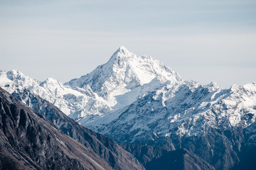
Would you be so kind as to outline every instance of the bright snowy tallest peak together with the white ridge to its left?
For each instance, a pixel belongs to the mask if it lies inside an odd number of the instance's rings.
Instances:
[[[80,122],[91,122],[99,115],[128,106],[166,81],[183,82],[158,60],[139,57],[125,47],[119,47],[106,64],[65,85],[52,78],[36,81],[17,70],[0,73],[0,86],[10,93],[28,89]]]

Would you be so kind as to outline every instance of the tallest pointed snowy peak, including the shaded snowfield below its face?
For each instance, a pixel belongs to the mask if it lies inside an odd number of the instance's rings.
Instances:
[[[73,89],[87,89],[89,86],[95,94],[105,99],[112,111],[116,111],[166,81],[177,84],[183,80],[158,60],[146,55],[137,56],[125,47],[119,47],[106,64],[65,85]]]

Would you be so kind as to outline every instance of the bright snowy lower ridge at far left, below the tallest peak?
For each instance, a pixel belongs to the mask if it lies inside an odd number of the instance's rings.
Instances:
[[[92,92],[90,86],[71,89],[53,78],[40,82],[17,70],[1,71],[0,85],[11,94],[28,89],[32,94],[50,101],[75,120],[79,120],[81,116],[100,115],[112,110],[103,98]]]

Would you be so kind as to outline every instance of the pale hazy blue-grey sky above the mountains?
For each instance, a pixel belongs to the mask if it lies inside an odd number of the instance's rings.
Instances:
[[[256,81],[256,1],[0,0],[0,69],[65,82],[121,45],[201,84]]]

